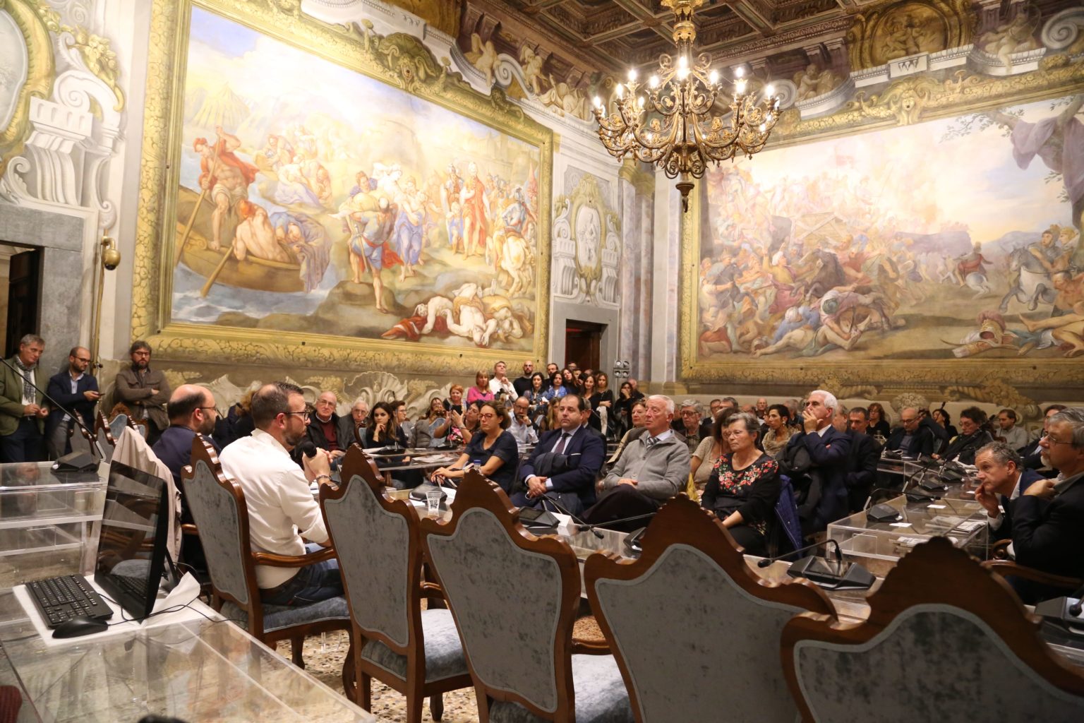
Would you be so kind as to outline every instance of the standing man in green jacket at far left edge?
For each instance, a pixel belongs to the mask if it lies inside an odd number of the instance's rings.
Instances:
[[[0,365],[0,462],[40,462],[44,459],[44,424],[49,408],[42,393],[48,377],[39,372],[38,360],[46,341],[27,334],[18,343],[18,353]]]

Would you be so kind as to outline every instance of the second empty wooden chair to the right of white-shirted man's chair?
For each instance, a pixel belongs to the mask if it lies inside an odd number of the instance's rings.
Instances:
[[[572,637],[580,572],[571,547],[526,532],[508,498],[477,470],[460,485],[452,519],[424,518],[420,529],[463,641],[482,723],[633,720],[608,648]]]

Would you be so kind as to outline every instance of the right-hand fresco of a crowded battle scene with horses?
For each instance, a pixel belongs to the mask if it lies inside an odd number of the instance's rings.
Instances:
[[[1084,353],[1084,95],[706,178],[697,359]]]

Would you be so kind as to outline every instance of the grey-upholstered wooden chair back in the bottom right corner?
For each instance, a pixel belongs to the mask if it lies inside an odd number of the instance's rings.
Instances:
[[[802,615],[784,629],[805,721],[1084,720],[1084,676],[1005,581],[945,538],[907,553],[867,599],[862,624]]]

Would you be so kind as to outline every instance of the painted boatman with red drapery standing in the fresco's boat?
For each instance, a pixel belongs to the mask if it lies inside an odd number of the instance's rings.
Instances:
[[[207,139],[197,138],[192,149],[199,154],[199,188],[210,193],[215,204],[208,247],[217,251],[222,246],[223,237],[232,243],[237,203],[248,199],[248,185],[256,180],[259,169],[234,155],[233,152],[241,147],[241,139],[227,133],[221,126],[217,126],[215,132],[218,140],[212,145],[207,143]],[[223,233],[225,227],[229,228]]]

